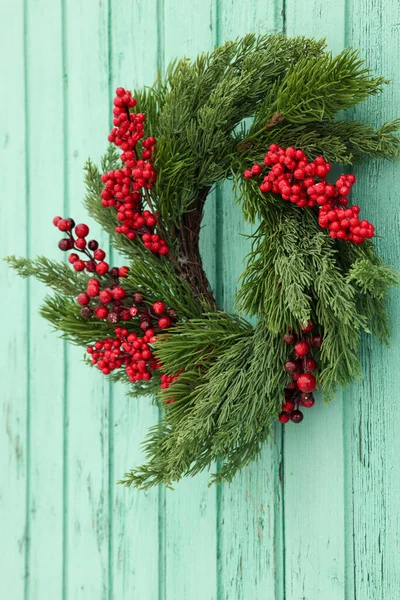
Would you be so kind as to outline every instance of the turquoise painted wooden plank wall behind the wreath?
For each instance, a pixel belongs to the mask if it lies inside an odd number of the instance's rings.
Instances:
[[[396,0],[1,0],[0,255],[59,256],[55,214],[85,219],[82,165],[106,148],[117,85],[249,31],[354,44],[393,83],[357,109],[400,115]],[[400,165],[358,167],[355,199],[399,266]],[[96,231],[96,227],[93,228]],[[203,251],[232,306],[246,227],[229,186]],[[392,346],[362,344],[365,378],[279,426],[231,485],[116,486],[158,417],[81,362],[37,315],[43,287],[1,266],[0,588],[7,600],[398,600],[399,291]]]

